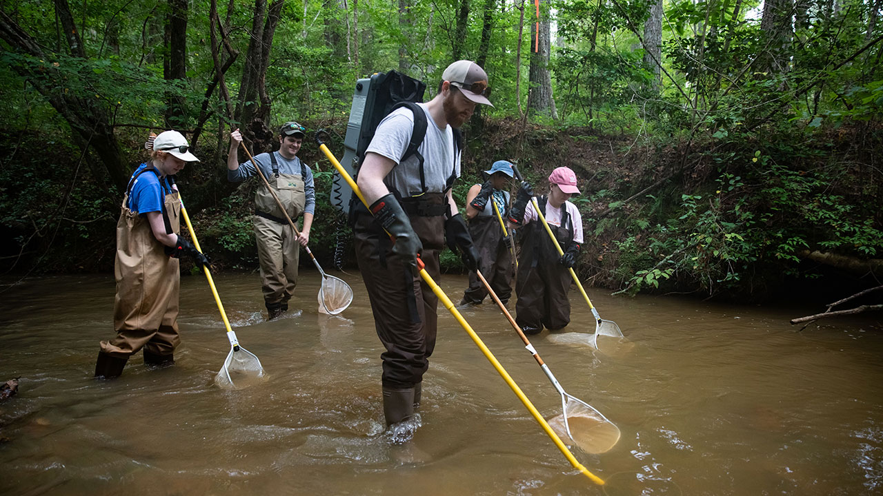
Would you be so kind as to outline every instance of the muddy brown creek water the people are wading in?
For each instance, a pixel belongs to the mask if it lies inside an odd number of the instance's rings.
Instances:
[[[337,274],[337,273],[336,273]],[[256,274],[215,282],[239,342],[268,377],[213,384],[230,349],[205,279],[182,278],[175,366],[133,357],[118,380],[91,378],[112,334],[110,275],[0,281],[0,494],[881,494],[883,325],[666,297],[592,303],[629,342],[605,349],[532,342],[571,395],[617,425],[607,453],[561,452],[448,312],[424,382],[422,426],[383,433],[381,346],[358,274],[350,309],[318,312],[306,272],[292,306],[261,316]],[[462,276],[442,288],[458,301]],[[571,291],[571,331],[592,316]],[[544,417],[561,402],[490,304],[464,317]]]

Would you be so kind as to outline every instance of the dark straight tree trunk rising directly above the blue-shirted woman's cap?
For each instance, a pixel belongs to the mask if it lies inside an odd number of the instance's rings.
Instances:
[[[187,71],[187,0],[169,0],[165,29],[166,58],[163,76],[169,82],[184,81]],[[181,127],[185,124],[186,115],[184,97],[166,93],[166,126]]]

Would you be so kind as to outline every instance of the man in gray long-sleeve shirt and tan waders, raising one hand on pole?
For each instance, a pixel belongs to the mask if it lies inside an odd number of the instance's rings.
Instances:
[[[298,236],[266,184],[260,181],[254,195],[253,221],[268,320],[288,310],[288,300],[298,284],[300,246],[309,243],[310,227],[313,225],[316,205],[313,171],[297,156],[305,131],[303,126],[295,122],[283,124],[279,128],[279,151],[254,157],[254,162],[258,163],[291,220],[296,221],[300,214],[304,214],[303,227]],[[237,151],[241,142],[242,134],[238,129],[230,132],[227,179],[233,183],[257,175],[252,162],[238,162]]]

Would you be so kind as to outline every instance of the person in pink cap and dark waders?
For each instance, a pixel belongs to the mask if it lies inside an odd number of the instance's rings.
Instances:
[[[521,228],[515,310],[516,322],[525,334],[539,334],[543,327],[556,331],[570,324],[568,269],[577,263],[583,244],[583,218],[577,206],[568,201],[575,194],[579,194],[577,175],[559,167],[549,175],[548,196],[537,199],[564,251],[561,256],[533,208],[530,184],[522,183],[509,210],[509,222]]]

